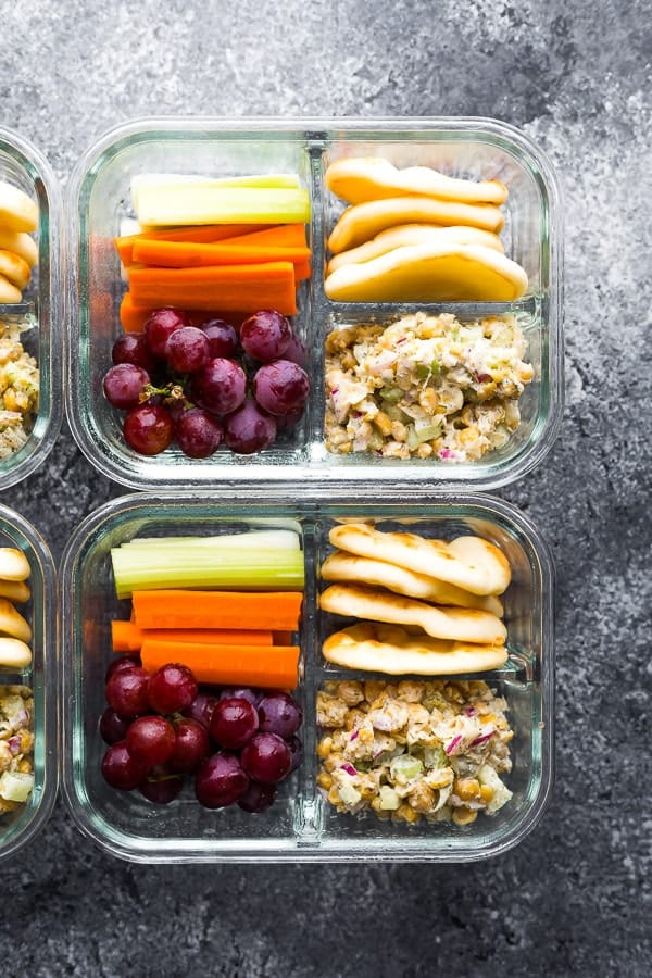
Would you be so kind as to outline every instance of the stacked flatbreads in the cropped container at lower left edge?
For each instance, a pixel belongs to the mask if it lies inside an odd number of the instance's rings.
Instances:
[[[0,668],[20,670],[32,663],[32,628],[15,607],[29,600],[28,577],[23,551],[0,547]]]

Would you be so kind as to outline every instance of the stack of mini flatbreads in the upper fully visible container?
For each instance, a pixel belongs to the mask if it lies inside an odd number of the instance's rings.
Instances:
[[[337,160],[325,179],[350,204],[328,239],[328,298],[490,302],[526,291],[526,273],[498,237],[507,199],[500,180],[398,170],[377,156]]]

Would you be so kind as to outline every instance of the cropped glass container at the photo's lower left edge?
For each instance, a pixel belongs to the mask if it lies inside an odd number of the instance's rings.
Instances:
[[[32,627],[30,665],[24,668],[0,666],[0,778],[4,772],[14,768],[20,772],[30,768],[27,773],[34,775],[34,787],[25,802],[7,804],[0,790],[1,862],[36,836],[54,804],[59,765],[59,672],[57,576],[50,551],[35,528],[4,505],[0,505],[0,547],[22,551],[29,563],[26,582],[30,597],[25,602],[16,602],[15,607]],[[28,707],[22,717],[18,713],[23,711],[16,710],[16,697],[21,697]],[[24,731],[34,735],[33,747],[22,741]],[[11,755],[20,758],[17,767]],[[13,789],[9,793],[12,794]]]

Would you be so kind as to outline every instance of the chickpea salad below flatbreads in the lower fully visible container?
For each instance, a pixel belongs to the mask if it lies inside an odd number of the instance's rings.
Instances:
[[[326,682],[317,782],[340,813],[469,825],[512,798],[506,709],[479,679]]]

